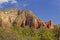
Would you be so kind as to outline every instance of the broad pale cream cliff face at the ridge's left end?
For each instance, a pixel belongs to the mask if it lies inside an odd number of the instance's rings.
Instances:
[[[17,9],[7,9],[0,11],[0,26],[8,28],[12,26],[12,23],[17,17]]]

